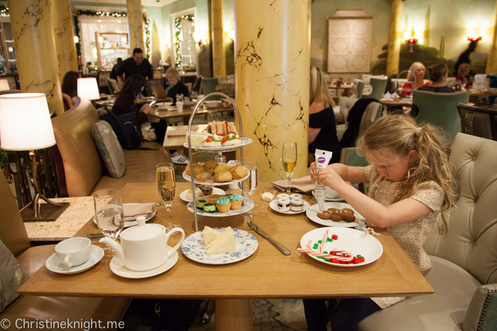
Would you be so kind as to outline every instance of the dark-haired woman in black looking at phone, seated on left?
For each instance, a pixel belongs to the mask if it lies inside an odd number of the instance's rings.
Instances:
[[[150,106],[150,104],[146,103],[138,109],[138,106],[136,106],[135,103],[135,99],[140,96],[145,84],[145,79],[141,74],[132,74],[127,78],[121,91],[117,94],[114,106],[112,106],[112,113],[116,114],[116,116],[127,113],[136,113],[138,125],[148,122],[147,114],[150,113],[155,106]],[[166,123],[165,120],[160,120],[157,123],[151,123],[151,125],[155,130],[157,142],[160,145],[163,145],[165,130],[168,128],[168,123]],[[169,152],[171,154],[171,159],[173,159],[173,163],[187,164],[189,162],[185,155],[180,155],[176,150],[169,150]]]

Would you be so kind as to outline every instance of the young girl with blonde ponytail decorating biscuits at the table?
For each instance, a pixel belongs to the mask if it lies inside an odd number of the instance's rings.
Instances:
[[[371,125],[356,143],[372,165],[330,164],[312,180],[339,192],[366,220],[388,228],[421,274],[432,269],[422,245],[439,214],[447,229],[447,213],[454,206],[452,172],[444,140],[432,125],[418,127],[412,118],[391,115]],[[365,196],[345,181],[370,184]],[[304,300],[308,330],[356,330],[362,319],[404,298]]]

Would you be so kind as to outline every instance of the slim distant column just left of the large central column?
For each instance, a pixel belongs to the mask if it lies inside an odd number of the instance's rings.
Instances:
[[[224,55],[223,35],[223,0],[212,0],[212,72],[214,76],[226,75],[226,57]]]

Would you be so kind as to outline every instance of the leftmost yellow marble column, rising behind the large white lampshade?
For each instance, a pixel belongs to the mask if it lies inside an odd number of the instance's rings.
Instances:
[[[50,0],[9,0],[9,13],[23,93],[47,95],[50,111],[64,112]]]

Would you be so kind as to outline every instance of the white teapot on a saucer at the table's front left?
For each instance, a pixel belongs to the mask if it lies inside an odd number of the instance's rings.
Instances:
[[[185,239],[182,228],[173,228],[167,234],[165,227],[160,224],[146,224],[145,218],[136,218],[137,226],[124,230],[121,235],[121,245],[109,237],[103,237],[100,242],[109,245],[116,256],[124,261],[124,266],[135,271],[146,271],[163,265],[168,258],[180,247]],[[170,235],[181,232],[181,239],[175,247],[168,247]]]

